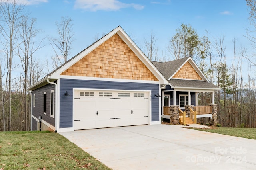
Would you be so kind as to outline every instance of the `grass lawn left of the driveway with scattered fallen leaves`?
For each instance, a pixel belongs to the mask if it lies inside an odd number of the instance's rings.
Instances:
[[[1,132],[0,169],[110,170],[58,133]]]

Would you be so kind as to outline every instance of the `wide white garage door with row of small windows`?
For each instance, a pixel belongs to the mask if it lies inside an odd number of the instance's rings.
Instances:
[[[149,93],[75,90],[74,129],[94,129],[149,122]]]

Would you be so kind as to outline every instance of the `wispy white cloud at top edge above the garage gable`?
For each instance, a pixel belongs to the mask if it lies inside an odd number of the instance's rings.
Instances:
[[[118,0],[76,0],[74,8],[83,9],[87,11],[118,11],[122,8],[134,8],[142,10],[144,6],[140,4],[126,4]]]

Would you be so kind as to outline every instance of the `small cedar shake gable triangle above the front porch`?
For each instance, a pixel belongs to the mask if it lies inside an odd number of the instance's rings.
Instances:
[[[180,70],[172,77],[179,79],[202,80],[193,66],[187,61]]]

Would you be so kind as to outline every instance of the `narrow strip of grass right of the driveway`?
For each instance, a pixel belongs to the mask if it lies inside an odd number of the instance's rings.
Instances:
[[[199,131],[206,131],[206,132],[212,132],[212,133],[220,133],[223,135],[256,139],[256,128],[211,127],[210,129],[202,129],[202,128],[189,128],[189,129],[196,129]]]

